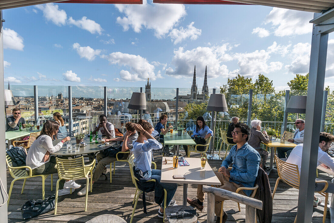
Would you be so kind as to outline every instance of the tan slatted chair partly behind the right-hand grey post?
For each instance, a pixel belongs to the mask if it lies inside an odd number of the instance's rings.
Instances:
[[[278,186],[278,182],[280,180],[283,180],[284,183],[298,190],[299,190],[299,182],[300,182],[298,165],[284,162],[277,156],[276,156],[276,164],[277,164],[278,178],[276,180],[276,184],[275,184],[275,188],[273,192],[273,199],[274,199],[275,192]],[[322,222],[325,223],[326,214],[327,214],[327,203],[328,203],[328,193],[326,193],[325,191],[328,188],[328,182],[327,181],[315,181],[315,183],[325,183],[324,189],[322,189],[321,191],[316,191],[316,193],[319,193],[320,195],[325,197],[324,216],[322,219]],[[295,222],[296,222],[296,219],[295,219]]]

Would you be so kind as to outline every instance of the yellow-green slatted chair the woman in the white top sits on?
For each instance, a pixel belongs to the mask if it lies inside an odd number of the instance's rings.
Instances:
[[[17,180],[24,179],[22,190],[21,190],[21,194],[23,194],[23,190],[24,190],[24,186],[25,186],[26,180],[28,178],[32,178],[32,177],[41,177],[42,178],[42,199],[44,200],[44,195],[45,195],[45,190],[44,190],[45,189],[45,179],[49,175],[32,175],[32,170],[31,170],[30,166],[13,167],[13,165],[12,165],[12,159],[7,154],[6,154],[6,163],[7,163],[7,166],[8,166],[8,170],[9,170],[10,176],[12,176],[12,178],[14,178],[14,180],[10,184],[9,193],[8,193],[7,206],[9,204],[9,199],[10,199],[10,195],[11,195],[12,190],[13,190],[14,182],[17,181]],[[29,174],[26,171],[26,168],[29,169],[29,171],[30,171]],[[53,179],[52,179],[52,174],[51,174],[51,191],[53,189],[52,186],[53,186]]]

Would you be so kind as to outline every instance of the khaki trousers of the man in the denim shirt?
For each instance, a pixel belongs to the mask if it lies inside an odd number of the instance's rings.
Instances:
[[[227,190],[227,191],[231,191],[231,192],[235,192],[236,189],[238,189],[239,187],[243,187],[243,185],[241,184],[236,184],[233,182],[229,182],[229,178],[225,177],[222,173],[219,172],[214,172],[218,178],[218,180],[221,183],[221,186],[219,188]],[[245,193],[243,193],[243,191],[240,191],[239,194],[245,195],[247,196]],[[203,185],[198,185],[197,187],[197,198],[200,202],[204,201],[205,198],[205,194],[203,193]],[[220,216],[220,208],[221,208],[221,201],[225,201],[228,199],[222,198],[222,197],[218,197],[218,196],[214,196],[214,213],[216,214],[216,216]]]

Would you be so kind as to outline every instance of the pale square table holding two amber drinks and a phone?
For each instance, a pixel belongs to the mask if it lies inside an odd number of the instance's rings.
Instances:
[[[186,158],[190,165],[178,166],[177,169],[173,169],[173,164],[165,164],[165,158],[171,159],[171,157],[162,157],[160,182],[183,184],[183,205],[187,205],[188,184],[221,185],[208,162],[201,170],[200,158]],[[184,175],[185,179],[173,179],[173,175]]]

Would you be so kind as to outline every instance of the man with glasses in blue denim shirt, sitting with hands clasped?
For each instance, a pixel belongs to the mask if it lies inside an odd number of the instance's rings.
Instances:
[[[228,156],[221,163],[218,172],[215,172],[221,183],[221,189],[235,192],[239,187],[254,187],[256,177],[258,176],[260,154],[252,146],[248,145],[247,141],[250,134],[251,129],[246,124],[240,122],[235,124],[232,137],[236,145],[231,148]],[[228,171],[227,168],[231,163],[233,163],[232,170]],[[200,211],[203,210],[205,197],[202,188],[202,185],[198,185],[197,198],[187,199],[190,205],[195,206]],[[246,196],[251,195],[251,193],[252,191],[250,190],[239,192],[239,194]],[[217,216],[216,223],[220,222],[220,202],[224,200],[227,199],[215,196],[214,212]],[[227,214],[224,212],[222,223],[225,223],[226,220]]]

